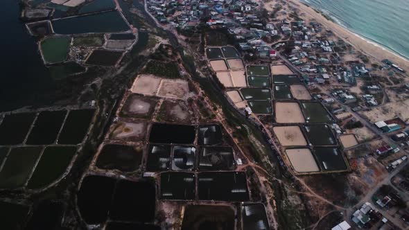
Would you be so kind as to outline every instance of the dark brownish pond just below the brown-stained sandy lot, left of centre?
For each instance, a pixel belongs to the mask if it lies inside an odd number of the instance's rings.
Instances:
[[[107,144],[103,146],[96,167],[132,172],[139,169],[143,157],[143,143],[132,145]]]

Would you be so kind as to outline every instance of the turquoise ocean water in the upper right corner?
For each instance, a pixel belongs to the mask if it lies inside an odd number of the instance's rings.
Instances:
[[[409,58],[408,0],[301,0],[341,26]]]

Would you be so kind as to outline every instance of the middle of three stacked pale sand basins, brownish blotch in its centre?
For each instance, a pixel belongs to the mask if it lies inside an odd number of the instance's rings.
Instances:
[[[276,126],[272,130],[283,146],[307,145],[306,139],[298,126]]]

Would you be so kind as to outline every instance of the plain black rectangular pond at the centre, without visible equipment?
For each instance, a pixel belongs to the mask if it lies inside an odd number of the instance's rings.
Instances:
[[[195,127],[155,123],[150,129],[149,141],[152,143],[193,143]]]

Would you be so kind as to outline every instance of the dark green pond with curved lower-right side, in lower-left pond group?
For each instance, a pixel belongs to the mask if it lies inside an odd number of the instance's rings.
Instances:
[[[76,152],[76,146],[47,147],[28,181],[27,188],[43,188],[55,182],[67,170]]]

